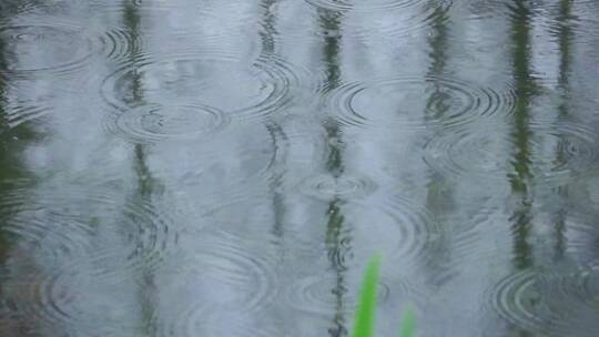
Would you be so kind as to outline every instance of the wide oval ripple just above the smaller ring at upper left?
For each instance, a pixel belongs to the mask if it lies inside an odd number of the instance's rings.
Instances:
[[[197,52],[126,62],[104,80],[102,95],[111,113],[116,114],[181,102],[176,105],[200,103],[231,119],[252,120],[281,111],[298,83],[294,68],[275,57],[244,61],[235,55]],[[238,88],[231,90],[232,85]],[[230,94],[224,98],[224,92]]]

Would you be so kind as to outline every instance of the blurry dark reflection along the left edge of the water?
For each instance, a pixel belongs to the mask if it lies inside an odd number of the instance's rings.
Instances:
[[[17,7],[14,2],[0,3],[1,18],[9,20],[13,7]],[[30,252],[38,243],[19,246],[21,237],[14,235],[10,226],[16,221],[16,210],[24,200],[11,198],[33,187],[34,180],[26,167],[23,151],[40,136],[29,123],[11,126],[9,122],[9,64],[17,61],[17,54],[9,49],[8,39],[0,30],[0,336],[26,336],[39,333],[38,324],[33,317],[19,315],[23,303],[16,302],[16,298],[28,299],[24,294],[14,296],[14,289],[8,285],[13,282],[11,276],[21,277],[22,283],[40,282],[33,253]]]

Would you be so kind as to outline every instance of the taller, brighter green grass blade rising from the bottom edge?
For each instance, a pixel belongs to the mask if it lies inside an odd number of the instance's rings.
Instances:
[[[374,336],[379,266],[380,256],[375,255],[364,272],[352,337]]]

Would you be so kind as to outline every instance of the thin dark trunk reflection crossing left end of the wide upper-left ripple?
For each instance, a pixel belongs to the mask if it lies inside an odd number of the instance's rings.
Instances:
[[[133,75],[131,79],[131,85],[129,86],[131,90],[131,105],[136,106],[141,105],[144,102],[143,98],[143,83],[142,83],[142,74],[138,71],[139,67],[139,58],[141,50],[139,50],[139,45],[136,45],[140,35],[140,23],[141,23],[141,16],[139,12],[139,8],[134,4],[133,1],[124,1],[123,7],[123,20],[124,24],[126,27],[128,33],[130,34],[129,41],[131,43],[134,43],[131,48],[131,53],[129,55],[129,61],[134,68]],[[126,113],[126,112],[125,112]],[[154,194],[155,190],[155,182],[154,178],[151,175],[150,168],[146,164],[146,150],[145,146],[141,143],[138,143],[134,145],[134,172],[138,177],[136,188],[133,192],[133,202],[136,204],[151,204],[152,203],[152,196]],[[138,231],[142,232],[143,227],[146,225],[143,223],[144,219],[142,218],[135,218],[135,215],[128,215],[132,216],[133,223],[136,224]],[[141,233],[136,233],[141,234]],[[135,255],[130,256],[129,258],[143,258],[145,247],[140,242],[138,246],[135,247],[134,252],[136,252]],[[153,273],[150,268],[144,267],[144,264],[142,263],[142,277],[141,280],[142,284],[140,285],[140,305],[141,305],[141,319],[142,319],[142,331],[143,336],[155,336],[158,330],[155,326],[155,308],[154,308],[154,297],[156,296],[158,289],[154,284],[154,277]]]

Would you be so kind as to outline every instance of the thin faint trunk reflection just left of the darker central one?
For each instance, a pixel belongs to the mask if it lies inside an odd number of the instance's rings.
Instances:
[[[276,3],[277,0],[263,0],[262,8],[264,9],[264,16],[262,18],[262,31],[260,33],[262,39],[262,58],[267,59],[273,55],[275,52],[275,35],[277,34],[275,29],[275,16],[271,11],[272,7]],[[275,159],[278,159],[278,152],[282,151],[281,146],[284,146],[286,141],[285,132],[283,127],[274,121],[266,121],[266,130],[273,141],[273,150],[275,151]],[[285,203],[284,197],[281,194],[281,188],[278,186],[283,183],[283,173],[284,173],[285,161],[276,162],[274,164],[273,171],[274,177],[271,185],[271,191],[273,191],[273,211],[274,211],[274,223],[273,223],[273,234],[281,239],[283,237],[283,222],[285,217]]]

